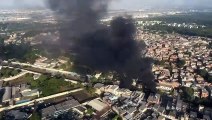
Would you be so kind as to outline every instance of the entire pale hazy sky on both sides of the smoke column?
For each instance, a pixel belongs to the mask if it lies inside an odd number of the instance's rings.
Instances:
[[[0,8],[31,8],[45,6],[45,0],[0,0]],[[111,0],[111,9],[142,9],[161,7],[212,7],[212,0]]]

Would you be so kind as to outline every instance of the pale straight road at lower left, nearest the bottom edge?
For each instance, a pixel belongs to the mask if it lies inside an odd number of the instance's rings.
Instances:
[[[21,103],[21,104],[18,104],[18,105],[3,107],[3,108],[0,108],[0,112],[3,112],[5,110],[11,110],[11,109],[14,109],[14,108],[23,107],[23,106],[32,106],[32,105],[34,105],[34,103],[37,103],[37,102],[39,103],[39,102],[42,102],[42,101],[45,101],[45,100],[57,98],[57,97],[64,96],[64,95],[69,95],[71,93],[78,92],[78,91],[81,91],[81,90],[83,90],[83,88],[74,89],[74,90],[70,90],[70,91],[66,91],[66,92],[50,95],[50,96],[47,96],[47,97],[34,99],[34,100],[29,101],[29,102]]]

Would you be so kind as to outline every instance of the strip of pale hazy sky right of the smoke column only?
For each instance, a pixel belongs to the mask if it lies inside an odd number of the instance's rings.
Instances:
[[[212,7],[212,0],[114,0],[112,8],[115,7],[127,9]]]

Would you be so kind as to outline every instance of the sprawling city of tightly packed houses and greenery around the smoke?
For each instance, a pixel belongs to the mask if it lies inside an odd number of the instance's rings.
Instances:
[[[123,14],[111,12],[100,22],[109,26]],[[0,119],[211,120],[212,19],[210,24],[162,19],[186,19],[196,15],[192,11],[127,14],[136,26],[133,37],[145,43],[144,57],[152,61],[155,91],[137,79],[121,88],[114,71],[77,65],[73,54],[57,55],[50,40],[59,39],[61,23],[51,11],[0,11]]]

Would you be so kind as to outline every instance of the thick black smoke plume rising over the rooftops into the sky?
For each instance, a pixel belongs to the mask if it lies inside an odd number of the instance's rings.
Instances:
[[[62,48],[74,52],[80,65],[116,72],[120,87],[130,88],[133,79],[138,79],[147,88],[155,90],[152,61],[144,58],[145,43],[134,39],[133,20],[117,17],[109,27],[100,24],[101,17],[107,13],[107,1],[49,0],[63,26],[60,30]]]

